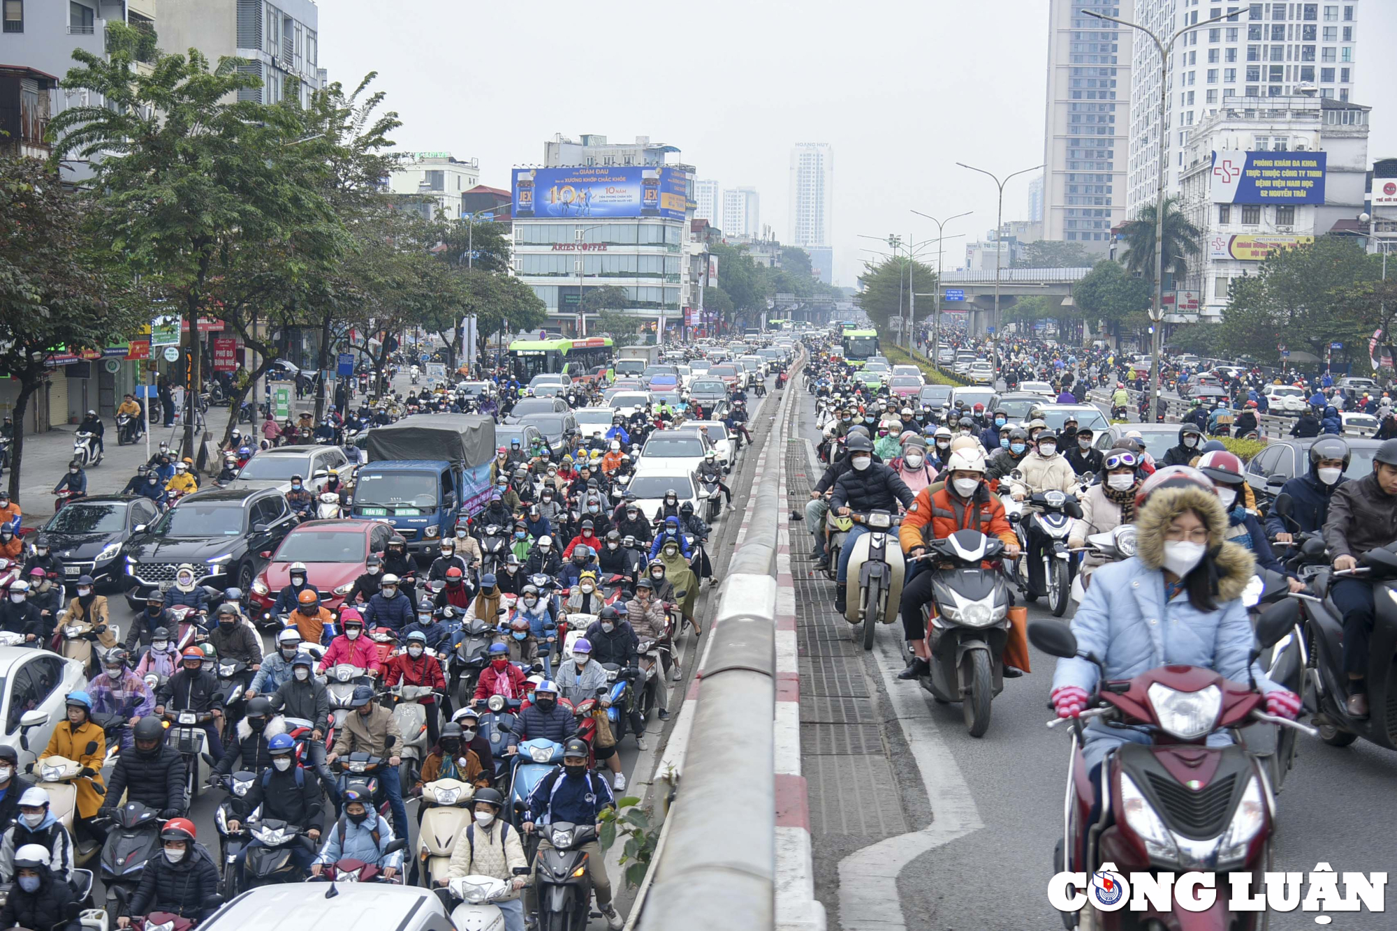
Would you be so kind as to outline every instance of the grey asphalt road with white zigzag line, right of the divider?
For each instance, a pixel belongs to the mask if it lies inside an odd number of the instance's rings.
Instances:
[[[809,399],[803,409],[803,435],[814,440]],[[792,553],[807,543],[803,532],[796,535]],[[812,585],[823,593],[821,602],[826,595],[833,599],[833,582],[816,576]],[[1028,618],[1048,620],[1051,614],[1030,606]],[[1046,886],[1060,835],[1069,741],[1060,729],[1045,727],[1052,716],[1046,702],[1053,657],[1034,650],[1032,673],[1006,683],[995,699],[989,733],[972,738],[958,705],[937,705],[915,684],[894,678],[904,664],[901,627],[883,628],[877,638],[872,653],[856,652],[882,719],[883,752],[891,762],[895,803],[908,833],[854,836],[834,826],[821,833],[816,821],[816,893],[828,927],[1060,928]],[[803,702],[802,720],[807,713]],[[842,764],[854,759],[820,757],[824,766],[845,768],[848,779],[840,780],[845,786],[858,784],[863,772]],[[1277,798],[1273,868],[1310,871],[1329,863],[1338,872],[1390,870],[1397,850],[1387,817],[1394,783],[1397,754],[1365,741],[1336,750],[1302,736],[1295,768]],[[886,801],[879,800],[879,807]],[[821,804],[868,811],[875,800],[859,794],[821,800],[812,783],[812,811]],[[893,899],[897,907],[890,909]],[[1390,909],[1391,902],[1389,893]],[[1393,927],[1390,914],[1333,917],[1334,928]],[[1315,914],[1271,914],[1270,927],[1315,927]]]

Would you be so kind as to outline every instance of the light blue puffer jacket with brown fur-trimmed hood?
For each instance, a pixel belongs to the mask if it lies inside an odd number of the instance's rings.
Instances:
[[[1146,507],[1136,519],[1139,554],[1102,565],[1091,576],[1087,595],[1071,618],[1080,656],[1088,652],[1105,663],[1105,678],[1125,680],[1166,663],[1211,669],[1225,678],[1246,684],[1248,659],[1255,642],[1252,623],[1241,595],[1255,571],[1252,554],[1222,539],[1227,516],[1221,502],[1201,489],[1161,489],[1164,507]],[[1207,514],[1211,563],[1217,572],[1215,609],[1200,611],[1186,593],[1166,599],[1164,572],[1164,532],[1182,509]],[[1053,688],[1077,685],[1088,694],[1097,687],[1097,666],[1081,657],[1058,660]],[[1257,688],[1270,692],[1278,687],[1260,667],[1252,669]],[[1148,736],[1108,729],[1099,722],[1087,727],[1083,748],[1087,766],[1099,764],[1106,752],[1125,741],[1148,743]],[[1214,734],[1210,744],[1229,743]]]

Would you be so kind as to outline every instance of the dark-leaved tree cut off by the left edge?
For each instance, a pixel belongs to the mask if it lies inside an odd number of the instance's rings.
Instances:
[[[53,355],[102,349],[149,321],[130,281],[96,246],[105,240],[87,233],[87,219],[56,166],[0,158],[0,371],[20,385],[10,448],[14,501],[20,501],[24,415]]]

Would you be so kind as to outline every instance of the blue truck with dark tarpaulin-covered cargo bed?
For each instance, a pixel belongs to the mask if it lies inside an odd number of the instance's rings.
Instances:
[[[352,516],[386,521],[425,556],[490,501],[495,419],[420,413],[369,431]]]

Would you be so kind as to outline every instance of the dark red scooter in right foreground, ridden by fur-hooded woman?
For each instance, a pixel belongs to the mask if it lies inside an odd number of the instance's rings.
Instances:
[[[1263,613],[1253,660],[1294,627],[1294,602]],[[1066,624],[1035,621],[1028,625],[1028,639],[1051,656],[1078,656],[1077,638]],[[1104,671],[1097,656],[1084,659]],[[1095,874],[1105,863],[1122,874],[1264,871],[1275,829],[1275,800],[1266,769],[1245,744],[1207,743],[1211,734],[1253,722],[1315,733],[1266,713],[1263,706],[1255,683],[1232,683],[1196,666],[1164,666],[1126,681],[1101,681],[1080,717],[1051,720],[1049,727],[1071,727],[1063,836],[1053,853],[1056,871]],[[1098,717],[1106,724],[1148,729],[1153,743],[1126,741],[1106,758],[1101,786],[1109,797],[1095,805],[1081,745],[1087,722]],[[1099,812],[1095,821],[1092,808]],[[1225,895],[1208,911],[1186,911],[1173,896],[1169,906],[1165,911],[1150,902],[1144,911],[1098,911],[1088,902],[1084,910],[1090,910],[1090,927],[1101,931],[1257,927],[1257,913],[1234,913]],[[1069,931],[1078,927],[1081,917],[1062,913]]]

